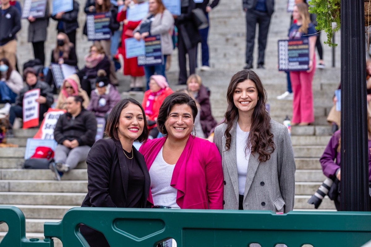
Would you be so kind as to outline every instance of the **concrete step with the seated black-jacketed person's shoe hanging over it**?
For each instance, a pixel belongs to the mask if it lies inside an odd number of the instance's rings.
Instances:
[[[1,169],[3,180],[54,180],[49,169]],[[62,180],[88,180],[86,169],[73,169],[62,176]]]

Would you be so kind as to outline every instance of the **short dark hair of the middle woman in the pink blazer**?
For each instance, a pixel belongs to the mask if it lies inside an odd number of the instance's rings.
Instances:
[[[192,110],[193,123],[196,119],[198,113],[196,102],[186,93],[172,93],[165,98],[164,102],[162,102],[162,105],[158,112],[157,128],[162,134],[167,134],[167,130],[166,128],[164,128],[165,121],[169,117],[171,108],[173,108],[173,106],[176,104],[186,104],[190,106]]]

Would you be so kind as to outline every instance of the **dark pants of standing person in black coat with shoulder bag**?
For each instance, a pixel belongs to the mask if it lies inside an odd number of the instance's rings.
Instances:
[[[179,59],[179,81],[178,84],[185,84],[187,83],[187,60],[185,58],[185,54],[188,53],[188,61],[189,61],[189,73],[195,74],[196,73],[196,51],[197,46],[191,47],[187,49],[185,46],[184,40],[178,30],[178,59]]]

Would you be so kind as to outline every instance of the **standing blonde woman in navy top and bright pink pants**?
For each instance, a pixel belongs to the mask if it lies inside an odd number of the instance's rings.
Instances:
[[[314,121],[312,80],[316,70],[314,53],[316,30],[309,17],[308,6],[298,3],[292,11],[294,23],[289,30],[290,40],[309,40],[309,69],[290,71],[290,80],[294,98],[292,101],[292,124],[309,125]]]

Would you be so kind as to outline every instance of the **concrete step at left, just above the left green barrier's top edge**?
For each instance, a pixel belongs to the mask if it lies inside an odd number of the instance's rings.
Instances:
[[[81,206],[86,193],[0,192],[2,204]]]

